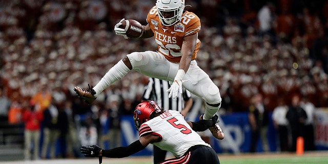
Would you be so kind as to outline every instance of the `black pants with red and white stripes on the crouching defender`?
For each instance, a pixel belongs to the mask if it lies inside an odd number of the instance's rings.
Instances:
[[[213,148],[196,145],[191,147],[183,156],[162,161],[158,164],[188,163],[188,164],[220,164]]]

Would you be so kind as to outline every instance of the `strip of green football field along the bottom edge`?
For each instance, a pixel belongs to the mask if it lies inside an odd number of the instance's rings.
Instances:
[[[306,152],[303,155],[295,153],[261,153],[261,154],[218,154],[221,164],[326,164],[328,163],[327,151]],[[121,159],[104,158],[103,164],[152,164],[150,156],[127,157]],[[0,164],[98,164],[97,158],[79,158],[79,159],[51,159],[34,161],[1,161]],[[201,163],[200,163],[201,164]]]

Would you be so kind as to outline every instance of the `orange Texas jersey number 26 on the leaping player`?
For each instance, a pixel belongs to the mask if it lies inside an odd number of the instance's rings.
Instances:
[[[158,52],[174,63],[180,63],[183,37],[196,34],[200,30],[200,19],[196,14],[189,11],[183,12],[181,20],[174,25],[162,25],[156,6],[150,9],[147,15],[147,23],[150,24],[150,28],[154,33]],[[200,40],[197,39],[192,60],[196,58],[199,47]]]

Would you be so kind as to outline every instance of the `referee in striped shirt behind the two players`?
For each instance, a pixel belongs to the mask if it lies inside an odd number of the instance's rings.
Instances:
[[[182,94],[179,94],[177,98],[169,98],[167,90],[170,87],[169,81],[149,78],[142,99],[153,100],[164,110],[179,111],[183,116],[186,116],[193,105],[191,93],[182,87]],[[165,160],[166,153],[167,151],[161,150],[154,145],[154,163]]]

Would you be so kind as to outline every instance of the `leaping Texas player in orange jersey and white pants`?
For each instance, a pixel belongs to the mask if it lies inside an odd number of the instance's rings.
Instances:
[[[140,38],[155,38],[158,52],[133,52],[118,61],[98,84],[89,89],[75,87],[79,97],[91,104],[98,94],[115,81],[120,80],[130,70],[163,80],[172,81],[167,91],[169,97],[177,97],[182,92],[182,85],[191,93],[206,101],[206,111],[200,119],[210,119],[221,106],[221,95],[218,87],[209,75],[197,66],[196,57],[200,47],[197,38],[200,20],[197,15],[186,11],[184,0],[157,0],[156,6],[147,15],[148,24]],[[115,33],[125,38],[125,29],[119,28],[122,19],[115,25]],[[210,128],[213,136],[224,138],[218,124]]]

